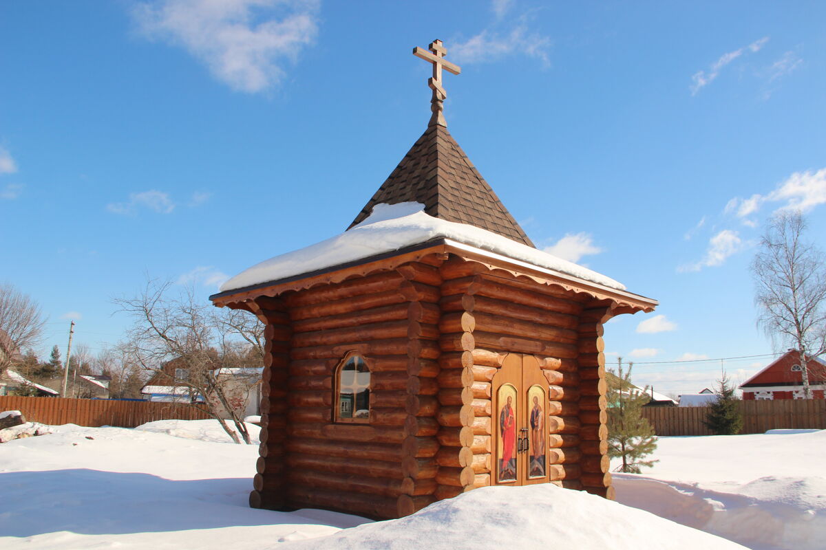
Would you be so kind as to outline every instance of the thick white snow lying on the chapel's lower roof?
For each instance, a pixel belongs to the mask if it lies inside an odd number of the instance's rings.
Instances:
[[[362,223],[325,241],[262,261],[222,284],[221,292],[363,260],[439,237],[611,289],[625,289],[623,284],[572,261],[466,223],[434,218],[425,214],[424,208],[417,202],[376,204],[373,214]]]

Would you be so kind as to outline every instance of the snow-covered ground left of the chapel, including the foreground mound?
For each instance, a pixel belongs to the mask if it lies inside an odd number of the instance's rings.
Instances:
[[[258,446],[221,443],[229,438],[214,421],[53,429],[0,445],[4,550],[743,548],[552,485],[480,489],[375,523],[322,510],[252,510],[247,496]]]

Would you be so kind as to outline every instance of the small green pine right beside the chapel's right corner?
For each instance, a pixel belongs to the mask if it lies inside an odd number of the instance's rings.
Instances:
[[[647,418],[643,405],[648,403],[648,388],[640,391],[631,383],[630,363],[623,372],[622,358],[616,373],[608,375],[608,456],[622,458],[618,472],[640,473],[657,460],[646,460],[657,449],[657,436]]]

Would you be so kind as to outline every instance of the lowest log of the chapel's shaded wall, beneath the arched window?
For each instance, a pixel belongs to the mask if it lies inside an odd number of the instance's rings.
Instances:
[[[374,519],[395,518],[398,496],[340,491],[325,487],[287,487],[287,504],[292,508],[326,508]]]

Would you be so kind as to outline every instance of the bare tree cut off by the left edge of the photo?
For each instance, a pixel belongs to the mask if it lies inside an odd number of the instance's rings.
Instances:
[[[19,358],[21,350],[40,343],[45,322],[39,303],[13,284],[0,284],[0,372]]]

